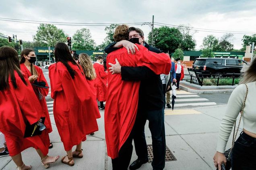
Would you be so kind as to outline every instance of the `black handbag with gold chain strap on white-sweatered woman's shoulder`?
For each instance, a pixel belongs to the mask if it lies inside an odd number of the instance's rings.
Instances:
[[[225,168],[221,167],[221,170],[230,170],[231,169],[231,152],[232,152],[232,149],[234,147],[234,144],[235,144],[235,139],[236,139],[236,136],[237,136],[237,132],[239,130],[239,125],[240,125],[240,122],[241,122],[241,119],[242,119],[242,115],[244,113],[244,106],[245,106],[245,103],[246,103],[246,98],[247,98],[247,94],[248,94],[248,86],[246,85],[246,95],[244,97],[244,103],[242,105],[242,110],[241,110],[241,115],[240,115],[240,119],[239,119],[239,123],[238,123],[238,126],[237,126],[237,130],[235,132],[235,124],[234,124],[234,133],[233,133],[233,140],[232,140],[232,146],[230,149],[226,150],[224,155],[227,159],[227,163],[226,163],[226,166]],[[218,168],[217,168],[218,170]]]

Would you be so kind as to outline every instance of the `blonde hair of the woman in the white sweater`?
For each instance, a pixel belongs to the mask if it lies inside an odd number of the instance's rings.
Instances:
[[[248,65],[244,65],[242,72],[244,74],[239,81],[239,84],[246,84],[256,81],[256,59],[255,57],[252,59],[251,63]]]

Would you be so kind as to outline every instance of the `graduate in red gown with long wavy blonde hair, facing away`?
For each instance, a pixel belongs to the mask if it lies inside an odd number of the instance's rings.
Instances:
[[[91,87],[91,92],[93,94],[93,100],[94,100],[92,111],[95,112],[96,119],[99,119],[101,115],[99,113],[97,99],[96,99],[97,98],[96,89],[94,87],[96,73],[95,73],[95,69],[93,68],[93,64],[91,63],[91,58],[89,57],[89,55],[85,53],[81,53],[78,56],[78,63],[81,65],[83,72],[85,74],[85,78]]]

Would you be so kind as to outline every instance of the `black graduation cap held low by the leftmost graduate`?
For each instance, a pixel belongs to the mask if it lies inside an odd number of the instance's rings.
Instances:
[[[44,121],[45,121],[45,117],[41,117],[39,122],[33,123],[32,125],[29,124],[29,122],[27,121],[24,138],[41,135],[42,131],[45,130],[46,128],[45,125],[43,124]]]

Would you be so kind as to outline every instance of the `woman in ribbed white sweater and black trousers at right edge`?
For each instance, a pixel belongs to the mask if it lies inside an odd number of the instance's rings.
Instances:
[[[246,96],[246,85],[248,87],[248,95],[242,115],[243,132],[233,146],[231,152],[231,167],[232,170],[256,169],[256,59],[254,59],[250,67],[246,69],[239,84],[240,85],[234,89],[229,97],[227,110],[219,130],[217,152],[213,157],[214,164],[219,170],[221,170],[221,164],[223,162],[226,164],[227,162],[224,152],[232,127],[242,110]]]

